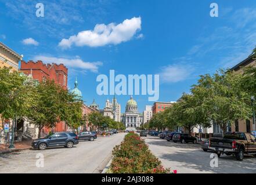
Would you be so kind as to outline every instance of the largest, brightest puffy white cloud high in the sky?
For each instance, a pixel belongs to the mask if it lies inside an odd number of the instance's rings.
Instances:
[[[141,29],[141,18],[126,19],[120,24],[96,24],[93,30],[81,31],[69,39],[62,39],[60,47],[70,48],[72,45],[99,47],[118,45],[132,39]]]

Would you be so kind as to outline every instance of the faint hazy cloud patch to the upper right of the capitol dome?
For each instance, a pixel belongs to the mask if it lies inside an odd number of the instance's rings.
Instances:
[[[193,72],[187,65],[168,65],[161,67],[160,79],[163,83],[176,83],[186,80]]]

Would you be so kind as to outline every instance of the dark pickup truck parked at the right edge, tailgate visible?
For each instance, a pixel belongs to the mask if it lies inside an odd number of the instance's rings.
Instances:
[[[226,133],[223,139],[211,138],[208,149],[217,153],[218,157],[221,157],[221,154],[226,154],[227,156],[233,154],[236,156],[236,160],[242,161],[244,153],[256,154],[256,140],[250,133]]]

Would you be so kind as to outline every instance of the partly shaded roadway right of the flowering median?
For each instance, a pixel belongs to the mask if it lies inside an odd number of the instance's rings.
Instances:
[[[256,173],[256,158],[245,156],[236,161],[225,154],[218,158],[218,167],[210,165],[210,152],[204,152],[199,144],[168,142],[158,137],[147,136],[149,149],[158,157],[165,168],[176,169],[178,173]]]

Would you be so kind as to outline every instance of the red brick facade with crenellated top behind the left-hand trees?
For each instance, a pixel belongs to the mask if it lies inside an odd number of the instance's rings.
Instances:
[[[20,71],[27,75],[32,75],[33,79],[37,79],[42,82],[44,79],[54,80],[56,84],[60,84],[63,88],[67,89],[67,75],[68,69],[63,64],[44,64],[42,61],[21,61]],[[60,121],[56,124],[55,128],[43,128],[41,136],[47,135],[52,132],[63,132],[67,130],[67,125],[64,121]]]

